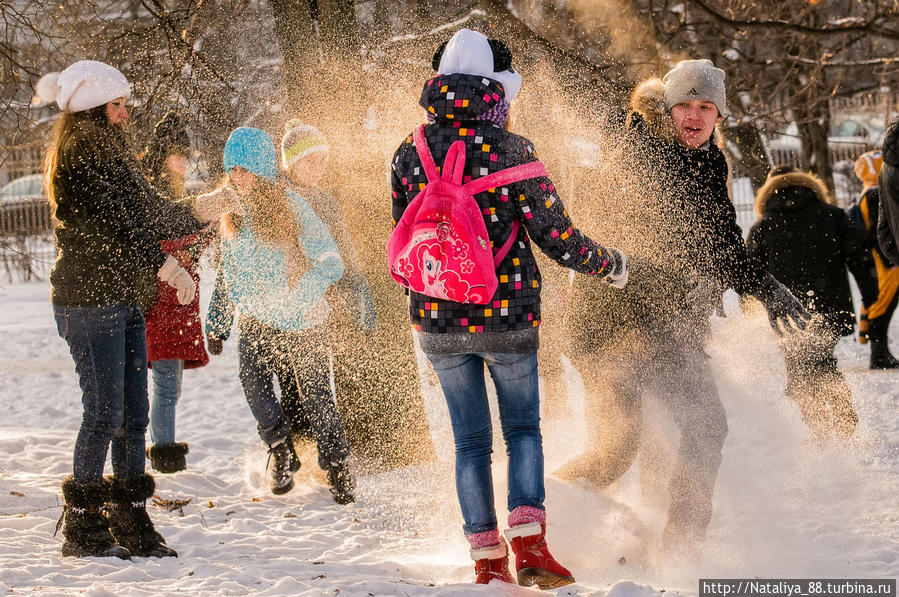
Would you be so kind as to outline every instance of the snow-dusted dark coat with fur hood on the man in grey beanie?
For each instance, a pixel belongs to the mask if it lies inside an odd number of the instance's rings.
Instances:
[[[627,220],[616,245],[631,257],[623,291],[574,281],[566,314],[575,353],[601,350],[622,335],[701,347],[722,293],[758,291],[753,263],[727,189],[728,165],[716,140],[689,149],[677,140],[664,84],[644,82],[631,98],[619,151]]]

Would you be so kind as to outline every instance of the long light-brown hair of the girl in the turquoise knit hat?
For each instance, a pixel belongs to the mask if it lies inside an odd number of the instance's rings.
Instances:
[[[220,187],[227,183],[226,176]],[[241,203],[251,216],[254,236],[260,242],[284,253],[287,285],[293,288],[309,269],[309,258],[300,242],[303,227],[290,207],[285,187],[257,176],[252,193]],[[222,216],[220,222],[222,238],[236,237],[243,220],[243,216],[238,214],[228,213]]]

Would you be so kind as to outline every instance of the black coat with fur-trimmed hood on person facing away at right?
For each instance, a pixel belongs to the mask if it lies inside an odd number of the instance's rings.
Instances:
[[[846,268],[866,306],[877,300],[877,273],[861,231],[831,203],[827,188],[811,174],[774,176],[756,195],[759,220],[749,231],[747,245],[806,309],[845,336],[855,328]]]

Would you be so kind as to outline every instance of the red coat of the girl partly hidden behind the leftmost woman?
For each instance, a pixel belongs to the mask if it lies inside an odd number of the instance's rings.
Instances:
[[[161,243],[163,252],[173,255],[197,284],[200,276],[196,272],[196,259],[188,248],[195,245],[202,250],[212,240],[209,230]],[[166,359],[183,359],[185,369],[202,367],[209,362],[200,322],[199,290],[193,301],[182,305],[178,302],[177,291],[157,280],[156,302],[147,313],[146,322],[147,361],[151,367],[153,361]]]

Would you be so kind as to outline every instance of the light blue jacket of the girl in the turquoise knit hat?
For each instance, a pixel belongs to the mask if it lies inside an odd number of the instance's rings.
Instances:
[[[216,284],[206,314],[206,332],[227,338],[233,310],[285,332],[298,332],[325,323],[330,307],[328,287],[343,276],[343,260],[325,224],[306,201],[285,191],[300,223],[300,242],[309,258],[309,270],[293,287],[287,285],[284,254],[253,235],[245,218],[237,236],[223,240]]]

